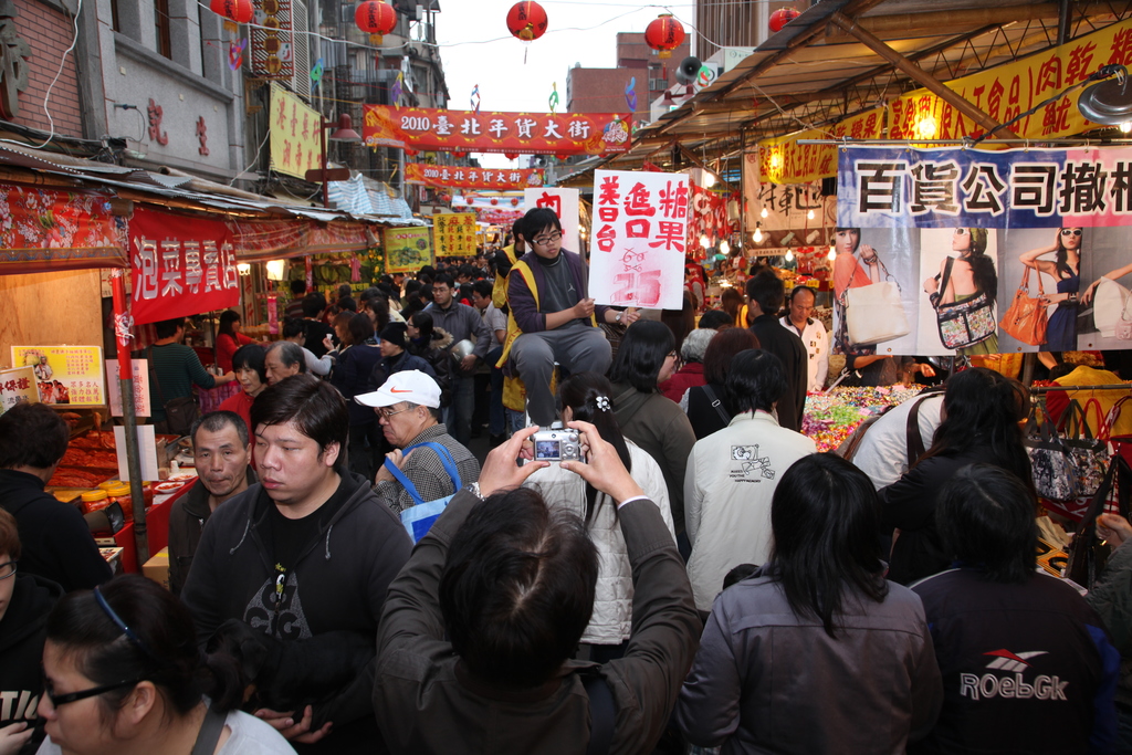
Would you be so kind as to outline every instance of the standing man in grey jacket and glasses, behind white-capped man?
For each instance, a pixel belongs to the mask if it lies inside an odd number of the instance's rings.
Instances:
[[[475,364],[487,359],[491,349],[491,332],[473,307],[456,301],[456,284],[447,273],[440,273],[432,281],[432,303],[424,311],[432,316],[432,327],[452,334],[454,343],[472,341],[472,353],[458,361],[458,370],[453,372],[452,403],[444,412],[444,420],[453,436],[466,444],[472,432],[472,407],[475,403]]]

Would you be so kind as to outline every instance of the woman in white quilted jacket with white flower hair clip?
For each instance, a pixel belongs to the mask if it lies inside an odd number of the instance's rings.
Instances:
[[[571,375],[558,386],[563,422],[590,422],[602,440],[617,449],[625,469],[657,506],[676,539],[668,505],[664,475],[652,456],[621,435],[614,415],[612,386],[597,372]],[[598,548],[598,585],[593,616],[582,634],[582,643],[593,645],[590,660],[603,663],[620,658],[633,624],[633,573],[629,567],[625,537],[617,521],[617,505],[577,474],[557,464],[541,469],[523,483],[538,490],[548,506],[569,509],[582,517]]]

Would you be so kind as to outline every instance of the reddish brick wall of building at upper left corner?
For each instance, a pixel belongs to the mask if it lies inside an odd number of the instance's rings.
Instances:
[[[59,61],[75,35],[75,27],[62,12],[37,0],[15,0],[18,15],[16,28],[32,48],[28,59],[27,88],[19,93],[19,113],[15,122],[20,126],[49,130],[48,117],[43,112],[43,97],[51,79],[59,70]],[[94,3],[89,3],[93,10]],[[76,49],[77,50],[77,49]],[[67,57],[62,74],[51,89],[48,108],[54,119],[55,134],[83,136],[83,119],[78,105],[78,80],[76,78],[75,53]]]

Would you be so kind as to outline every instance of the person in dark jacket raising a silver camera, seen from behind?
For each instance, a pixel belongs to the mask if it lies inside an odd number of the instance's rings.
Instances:
[[[458,492],[389,585],[374,709],[394,753],[652,752],[692,662],[701,623],[657,505],[592,424],[571,422],[586,462],[561,462],[617,501],[633,565],[625,657],[569,659],[593,606],[597,552],[585,525],[515,489],[515,434],[478,486]],[[481,503],[480,496],[483,496]]]

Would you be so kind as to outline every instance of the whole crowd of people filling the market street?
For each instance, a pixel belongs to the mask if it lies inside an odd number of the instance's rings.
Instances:
[[[955,372],[847,461],[771,271],[685,333],[588,299],[548,211],[454,272],[232,338],[168,592],[43,492],[66,423],[0,415],[0,755],[1132,748],[1132,524],[1087,598],[1036,568],[1024,386]]]

